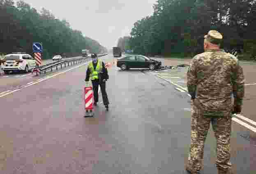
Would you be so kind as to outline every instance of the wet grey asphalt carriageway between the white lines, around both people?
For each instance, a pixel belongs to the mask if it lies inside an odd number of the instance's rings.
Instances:
[[[113,62],[111,54],[103,59]],[[0,97],[0,174],[186,174],[187,94],[148,70],[114,65],[106,85],[110,110],[99,104],[94,118],[83,118],[86,68]],[[256,144],[245,134],[233,123],[231,162],[237,174],[254,174]],[[211,130],[202,174],[217,174],[215,142]]]

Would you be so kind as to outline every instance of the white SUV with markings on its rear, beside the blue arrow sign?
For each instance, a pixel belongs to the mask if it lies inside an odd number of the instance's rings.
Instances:
[[[4,56],[2,70],[5,74],[9,72],[29,72],[36,67],[36,61],[26,53],[16,52]]]

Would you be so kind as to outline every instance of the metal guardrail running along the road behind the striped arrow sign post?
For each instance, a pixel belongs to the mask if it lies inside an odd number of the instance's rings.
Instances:
[[[108,55],[108,53],[98,54],[98,57],[106,56],[106,55]],[[63,61],[55,61],[55,62],[51,62],[51,63],[47,63],[45,65],[39,66],[38,68],[35,68],[35,69],[38,69],[40,74],[42,72],[46,73],[47,70],[51,70],[51,72],[52,72],[53,68],[56,68],[56,70],[58,70],[58,66],[60,66],[60,68],[62,68],[63,64],[64,64],[64,68],[65,68],[66,66],[69,66],[69,64],[72,65],[72,62],[73,62],[73,65],[74,65],[74,64],[82,63],[88,58],[89,58],[89,56],[79,57],[79,58],[75,58],[75,59],[66,59],[66,60],[63,60]],[[34,70],[32,70],[32,72],[33,71]]]

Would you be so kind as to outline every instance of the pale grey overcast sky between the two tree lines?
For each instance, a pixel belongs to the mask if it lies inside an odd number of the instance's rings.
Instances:
[[[16,0],[17,1],[17,0]],[[153,13],[157,0],[23,0],[39,12],[42,7],[55,18],[66,19],[72,29],[108,49],[118,38],[129,36],[133,24]]]

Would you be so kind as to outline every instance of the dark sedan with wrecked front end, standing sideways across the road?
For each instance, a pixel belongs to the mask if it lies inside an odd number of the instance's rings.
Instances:
[[[129,68],[149,68],[150,70],[158,69],[161,61],[156,61],[143,55],[130,55],[117,60],[117,67],[122,70]]]

